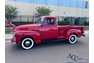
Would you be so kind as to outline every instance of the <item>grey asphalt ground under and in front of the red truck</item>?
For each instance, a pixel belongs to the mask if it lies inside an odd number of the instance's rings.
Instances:
[[[6,41],[5,56],[6,63],[88,63],[89,37],[81,37],[74,45],[65,40],[44,42],[30,50]]]

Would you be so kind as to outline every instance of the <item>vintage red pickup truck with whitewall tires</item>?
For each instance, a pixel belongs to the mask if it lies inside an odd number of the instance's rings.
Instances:
[[[84,34],[82,26],[58,26],[55,16],[41,16],[37,23],[17,26],[12,43],[20,44],[23,49],[31,49],[43,40],[66,39],[74,44]]]

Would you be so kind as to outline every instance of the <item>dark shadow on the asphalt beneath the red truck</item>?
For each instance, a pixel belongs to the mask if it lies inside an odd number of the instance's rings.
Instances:
[[[75,44],[70,44],[68,43],[68,41],[66,40],[56,40],[56,41],[44,41],[39,45],[34,45],[34,47],[30,50],[24,50],[21,48],[20,45],[11,45],[11,51],[33,51],[33,50],[40,50],[40,49],[46,49],[46,48],[52,48],[52,47],[58,47],[58,46],[62,46],[62,47],[77,47],[80,45],[84,45],[82,44],[83,42],[81,41],[77,41]]]

